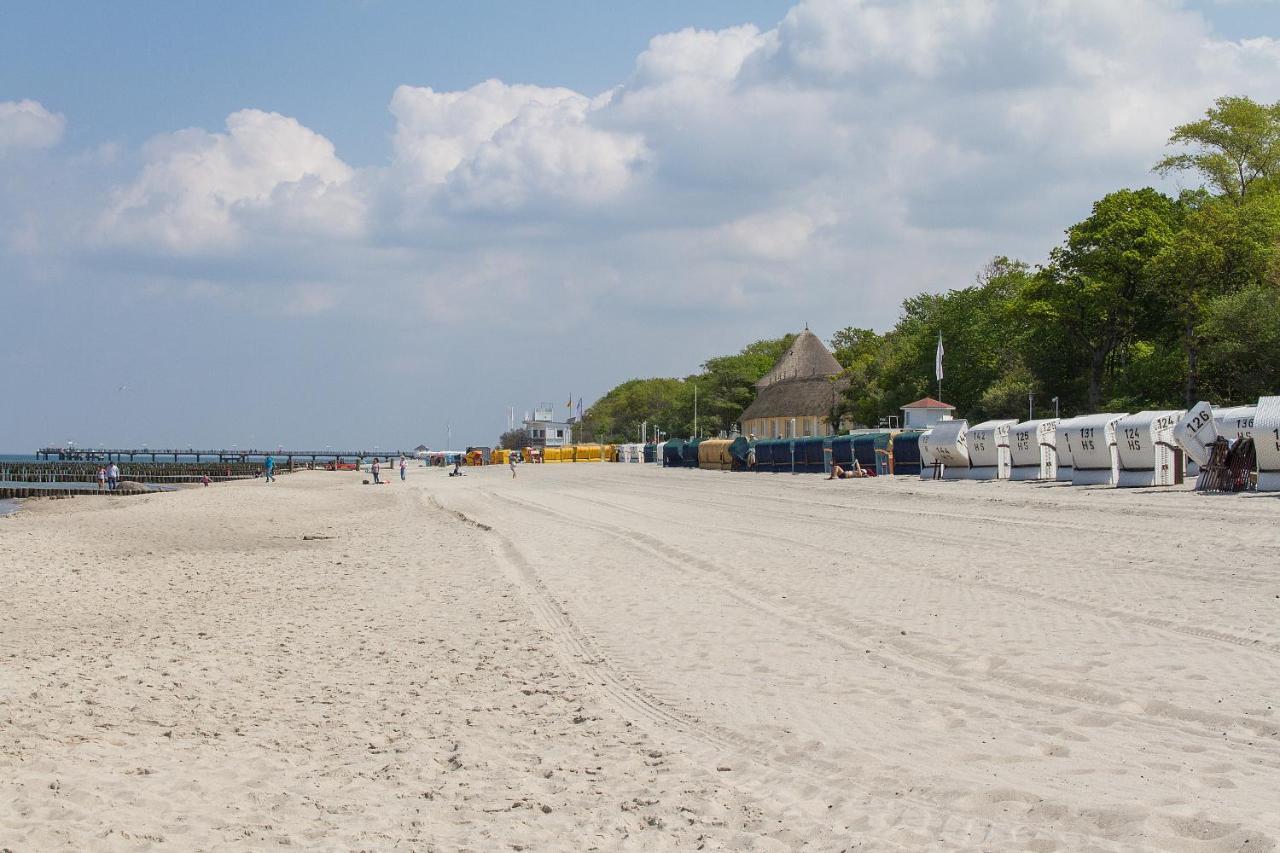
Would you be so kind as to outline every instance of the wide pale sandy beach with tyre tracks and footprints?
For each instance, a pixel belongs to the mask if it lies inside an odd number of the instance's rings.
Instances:
[[[0,849],[1274,849],[1277,520],[639,465],[36,503]]]

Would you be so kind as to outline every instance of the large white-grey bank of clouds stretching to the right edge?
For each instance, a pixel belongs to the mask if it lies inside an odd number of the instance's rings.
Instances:
[[[168,134],[96,236],[298,282],[340,238],[321,307],[376,261],[387,288],[480,295],[497,286],[468,270],[497,270],[516,302],[573,282],[579,304],[719,293],[762,315],[785,289],[883,324],[1156,182],[1170,128],[1213,97],[1276,91],[1280,42],[1175,0],[805,0],[768,29],[657,36],[600,93],[399,86],[385,165],[257,110]]]

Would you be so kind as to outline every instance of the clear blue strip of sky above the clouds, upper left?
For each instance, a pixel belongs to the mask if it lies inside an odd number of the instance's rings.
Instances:
[[[776,23],[782,0],[576,3],[13,3],[0,29],[6,97],[74,115],[67,142],[141,145],[218,127],[244,106],[292,115],[357,164],[380,163],[401,83],[495,77],[598,92],[657,33]]]

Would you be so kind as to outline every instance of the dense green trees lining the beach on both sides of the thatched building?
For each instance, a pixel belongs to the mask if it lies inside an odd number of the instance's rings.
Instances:
[[[1060,400],[1064,415],[1244,403],[1280,391],[1280,104],[1222,97],[1174,129],[1160,173],[1203,188],[1170,197],[1119,190],[1066,231],[1043,266],[996,257],[975,280],[902,304],[884,333],[846,328],[831,348],[851,380],[851,420],[873,425],[936,393],[937,338],[946,343],[945,400],[960,416],[1023,418]],[[672,435],[728,429],[753,383],[790,337],[712,359],[686,379],[634,379],[588,412],[608,439],[641,421]]]

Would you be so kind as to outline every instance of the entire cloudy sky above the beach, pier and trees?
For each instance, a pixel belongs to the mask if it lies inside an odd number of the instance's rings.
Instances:
[[[489,444],[1042,261],[1275,0],[5,4],[0,452]]]

